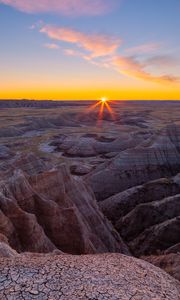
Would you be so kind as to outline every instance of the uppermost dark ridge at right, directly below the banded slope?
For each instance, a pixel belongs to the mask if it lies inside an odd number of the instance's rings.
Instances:
[[[160,178],[132,187],[99,202],[99,206],[108,219],[115,224],[138,205],[180,193],[180,183],[176,178]]]

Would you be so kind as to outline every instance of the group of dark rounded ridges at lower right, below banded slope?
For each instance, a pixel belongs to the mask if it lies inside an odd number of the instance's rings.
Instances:
[[[174,252],[178,251],[178,178],[176,175],[151,181],[99,202],[134,255],[156,254],[173,247]]]

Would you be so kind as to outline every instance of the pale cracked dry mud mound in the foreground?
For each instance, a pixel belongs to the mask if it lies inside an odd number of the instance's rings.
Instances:
[[[180,284],[122,254],[25,254],[0,259],[0,299],[178,300]]]

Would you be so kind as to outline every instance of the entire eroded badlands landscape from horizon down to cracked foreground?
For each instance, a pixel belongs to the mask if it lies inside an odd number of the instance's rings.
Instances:
[[[180,295],[180,102],[0,101],[0,299]]]

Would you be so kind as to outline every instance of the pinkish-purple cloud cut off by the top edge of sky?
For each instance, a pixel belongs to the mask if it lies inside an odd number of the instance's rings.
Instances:
[[[0,0],[26,13],[56,13],[63,15],[99,15],[108,12],[117,0]]]

